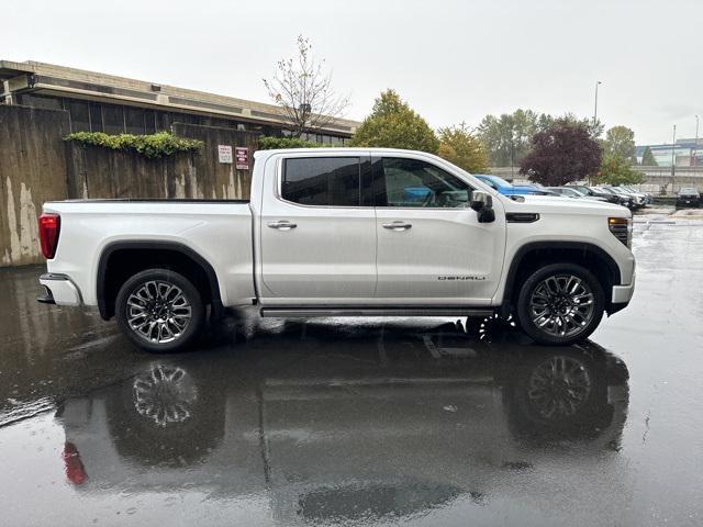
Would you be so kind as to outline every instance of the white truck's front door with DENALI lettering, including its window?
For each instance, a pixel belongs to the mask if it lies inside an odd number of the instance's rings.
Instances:
[[[479,223],[471,186],[425,160],[373,161],[376,298],[388,304],[487,305],[498,289],[505,221]]]

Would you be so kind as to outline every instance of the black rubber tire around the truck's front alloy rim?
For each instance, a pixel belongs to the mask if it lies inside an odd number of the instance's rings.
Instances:
[[[592,312],[588,319],[583,317],[578,318],[573,323],[574,326],[571,332],[565,334],[555,334],[554,324],[545,325],[540,327],[535,321],[534,313],[532,311],[531,302],[535,290],[543,283],[544,280],[549,277],[572,276],[582,281],[592,294]],[[568,300],[567,300],[568,301]],[[568,306],[565,307],[568,310]],[[517,296],[517,322],[521,328],[534,340],[547,346],[568,346],[579,340],[585,339],[591,335],[603,318],[603,311],[605,310],[605,295],[603,293],[603,287],[598,278],[593,276],[591,271],[584,269],[581,266],[574,264],[551,264],[533,272],[523,283],[520,294]],[[577,315],[581,316],[581,315]],[[544,322],[544,318],[539,318],[539,322]]]

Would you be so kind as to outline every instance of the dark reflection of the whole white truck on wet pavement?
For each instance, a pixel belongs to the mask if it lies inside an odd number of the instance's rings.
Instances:
[[[81,492],[268,491],[287,523],[398,519],[481,503],[546,457],[618,449],[627,370],[595,345],[525,356],[445,324],[357,328],[341,347],[334,326],[302,329],[217,360],[155,359],[67,400],[56,416]]]

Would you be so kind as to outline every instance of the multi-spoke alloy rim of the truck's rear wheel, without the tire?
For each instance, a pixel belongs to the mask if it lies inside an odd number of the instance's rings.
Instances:
[[[176,340],[191,318],[192,309],[183,291],[163,280],[144,282],[127,299],[130,328],[149,343]]]

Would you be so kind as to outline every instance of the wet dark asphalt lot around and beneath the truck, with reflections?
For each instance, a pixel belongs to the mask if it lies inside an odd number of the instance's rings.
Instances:
[[[638,216],[631,306],[259,319],[154,356],[0,271],[0,525],[703,524],[703,220]]]

